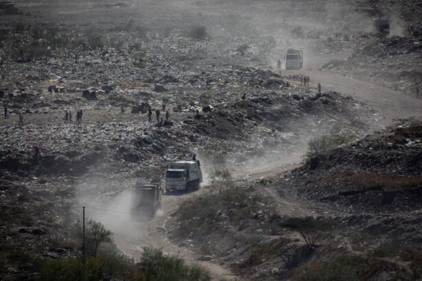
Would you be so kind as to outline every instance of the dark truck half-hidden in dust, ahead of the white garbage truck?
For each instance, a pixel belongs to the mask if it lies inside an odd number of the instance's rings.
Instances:
[[[153,217],[156,211],[161,209],[162,190],[159,184],[137,182],[134,193],[132,212]]]

